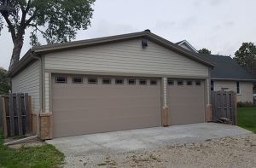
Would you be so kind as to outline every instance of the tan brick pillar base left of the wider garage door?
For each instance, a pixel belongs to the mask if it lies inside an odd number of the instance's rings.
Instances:
[[[40,138],[52,139],[52,113],[40,113]]]

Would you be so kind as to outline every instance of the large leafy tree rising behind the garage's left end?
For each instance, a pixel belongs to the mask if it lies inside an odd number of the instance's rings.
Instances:
[[[4,2],[14,9],[11,12],[0,10],[0,31],[5,20],[14,43],[10,70],[20,60],[25,32],[31,31],[33,46],[40,44],[38,33],[47,43],[71,41],[76,31],[90,26],[91,5],[95,0],[0,0],[0,4]]]

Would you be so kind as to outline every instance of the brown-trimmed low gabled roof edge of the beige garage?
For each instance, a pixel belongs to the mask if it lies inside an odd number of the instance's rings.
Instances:
[[[143,32],[134,32],[129,34],[105,37],[105,38],[93,38],[93,39],[80,40],[80,41],[74,41],[74,42],[68,42],[68,43],[55,43],[55,44],[48,44],[48,45],[33,47],[32,49],[29,49],[26,52],[26,55],[24,55],[19,62],[16,63],[15,67],[13,68],[14,71],[9,72],[9,77],[15,76],[15,74],[20,72],[22,68],[25,68],[27,64],[37,59],[35,57],[36,55],[44,55],[47,53],[61,51],[65,49],[78,49],[78,48],[90,47],[90,46],[100,45],[104,43],[117,43],[125,40],[137,39],[137,38],[146,38],[150,41],[153,41],[154,43],[160,44],[161,46],[167,49],[171,49],[179,53],[180,55],[184,55],[189,59],[200,62],[201,64],[206,65],[207,67],[215,67],[215,65],[212,64],[212,62],[206,61],[205,59],[201,58],[194,52],[191,52],[188,49],[183,49],[183,47],[180,47],[179,45],[172,43],[166,40],[165,38],[160,38],[159,36],[155,35],[149,30],[145,30]]]

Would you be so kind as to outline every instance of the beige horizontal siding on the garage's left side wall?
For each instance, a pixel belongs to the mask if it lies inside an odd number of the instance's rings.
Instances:
[[[39,76],[40,76],[40,64],[39,61],[33,62],[27,66],[24,70],[19,72],[14,78],[12,78],[12,92],[13,93],[28,93],[32,96],[32,111],[38,113],[40,109],[39,103]]]

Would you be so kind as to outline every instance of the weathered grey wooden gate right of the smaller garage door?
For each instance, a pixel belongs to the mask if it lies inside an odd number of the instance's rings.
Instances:
[[[234,91],[212,91],[212,122],[219,119],[230,119],[232,125],[237,124],[236,94]]]

